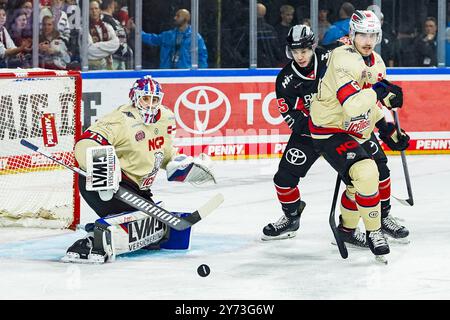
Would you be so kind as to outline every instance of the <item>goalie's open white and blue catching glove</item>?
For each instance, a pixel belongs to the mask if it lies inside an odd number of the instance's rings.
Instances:
[[[167,180],[190,182],[194,185],[200,185],[208,181],[216,183],[216,178],[211,169],[212,161],[204,153],[195,158],[180,154],[167,164]]]

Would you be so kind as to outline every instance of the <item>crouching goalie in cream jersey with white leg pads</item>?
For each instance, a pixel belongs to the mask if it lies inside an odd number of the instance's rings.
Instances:
[[[109,226],[108,236],[113,239],[113,245],[109,252],[93,254],[94,236],[90,231],[94,224],[88,224],[87,237],[75,242],[63,261],[104,262],[111,254],[115,256],[148,245],[157,247],[168,238],[164,223],[113,198],[119,185],[153,201],[150,188],[160,169],[166,170],[169,181],[193,184],[214,181],[211,162],[206,155],[197,158],[177,155],[173,146],[175,117],[161,104],[163,96],[161,85],[150,76],[136,80],[129,93],[131,103],[100,118],[76,143],[75,158],[79,167],[88,173],[88,178],[79,177],[80,193],[102,218],[99,220]],[[99,171],[95,166],[99,154],[112,159],[113,169],[107,177],[108,185],[112,185],[110,188],[99,184],[98,175],[94,175]],[[90,178],[90,172],[94,172],[93,178]],[[95,225],[97,229],[99,220]],[[141,231],[133,234],[133,228]]]

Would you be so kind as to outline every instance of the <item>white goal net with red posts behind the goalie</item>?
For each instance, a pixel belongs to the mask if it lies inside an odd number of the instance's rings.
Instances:
[[[78,177],[20,139],[74,165],[80,105],[79,72],[0,69],[0,226],[74,229],[79,223]]]

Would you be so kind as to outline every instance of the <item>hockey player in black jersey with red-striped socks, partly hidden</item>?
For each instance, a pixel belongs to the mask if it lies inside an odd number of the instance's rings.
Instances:
[[[298,184],[300,178],[319,158],[314,151],[308,128],[309,106],[317,92],[320,78],[326,71],[329,52],[316,48],[316,37],[305,25],[296,25],[287,36],[286,55],[292,59],[278,74],[276,96],[280,113],[292,130],[277,173],[275,189],[281,203],[283,216],[263,229],[262,240],[277,240],[294,237],[299,228],[300,215],[305,208]],[[382,208],[382,230],[393,238],[405,238],[409,231],[389,215],[390,178],[387,158],[375,135],[363,144],[370,152],[380,171],[380,195]],[[350,210],[356,206],[345,196],[341,206]],[[342,223],[338,227],[341,238],[348,244],[367,248],[365,234],[356,229],[347,229]]]

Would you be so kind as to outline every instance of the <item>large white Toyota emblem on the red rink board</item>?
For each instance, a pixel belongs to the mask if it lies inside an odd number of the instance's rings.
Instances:
[[[196,94],[191,94],[192,92],[196,92]],[[189,94],[191,95],[189,96]],[[195,99],[192,99],[193,97],[195,97]],[[214,98],[215,100],[210,101],[210,98]],[[211,111],[222,105],[225,105],[225,115],[223,116],[223,119],[214,127],[209,128],[208,125],[211,120]],[[187,124],[182,120],[182,115],[185,111],[180,111],[181,106],[193,111],[193,123]],[[222,91],[213,87],[197,86],[186,90],[178,97],[175,102],[174,112],[177,122],[187,132],[208,134],[219,130],[227,123],[231,115],[231,104]],[[203,120],[201,120],[200,115],[202,115]]]

